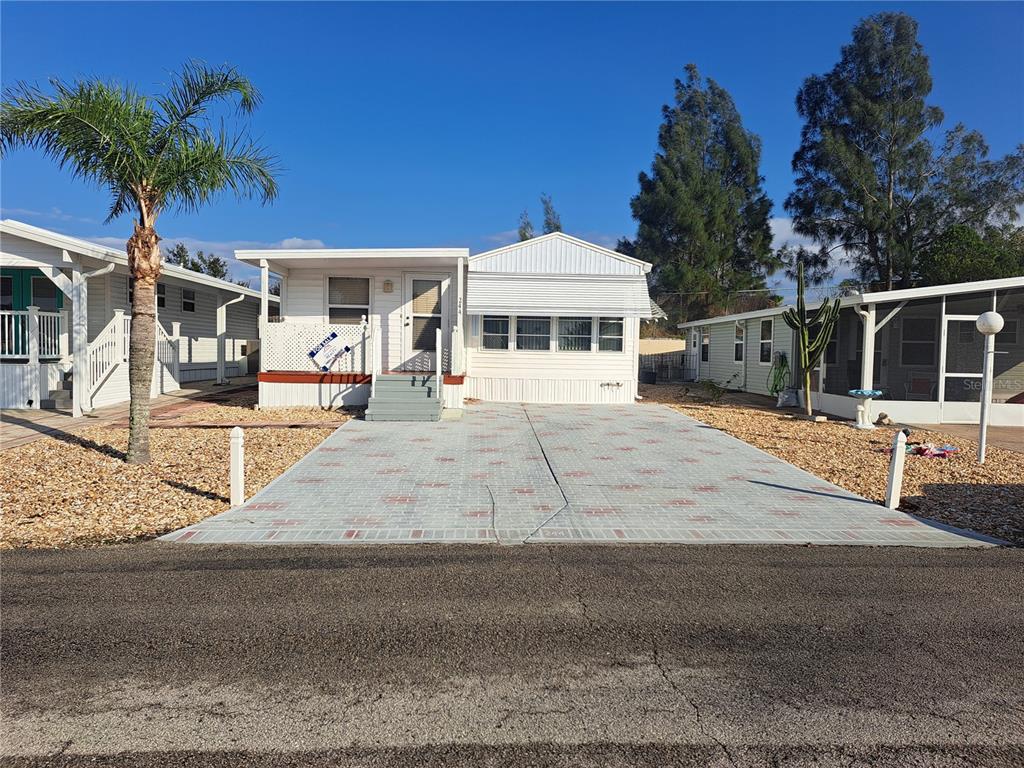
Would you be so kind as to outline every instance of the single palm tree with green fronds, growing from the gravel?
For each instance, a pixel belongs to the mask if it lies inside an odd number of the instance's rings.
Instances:
[[[16,146],[41,150],[61,168],[111,195],[106,221],[131,214],[128,268],[135,279],[128,381],[131,389],[127,461],[150,462],[150,386],[156,345],[160,276],[157,220],[168,209],[195,212],[223,190],[262,203],[278,195],[276,162],[244,131],[214,128],[208,111],[237,100],[249,115],[260,96],[228,67],[190,62],[165,93],[98,80],[51,81],[53,94],[18,83],[0,101],[0,157]]]

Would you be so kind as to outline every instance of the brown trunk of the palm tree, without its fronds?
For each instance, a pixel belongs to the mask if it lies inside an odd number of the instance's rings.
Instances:
[[[157,345],[157,278],[160,275],[160,238],[152,226],[135,225],[128,240],[128,268],[135,279],[128,342],[129,464],[150,463],[150,389]]]

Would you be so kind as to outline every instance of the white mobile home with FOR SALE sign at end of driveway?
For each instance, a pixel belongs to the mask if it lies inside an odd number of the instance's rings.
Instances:
[[[555,232],[475,256],[459,248],[236,256],[261,267],[264,300],[269,273],[281,278],[280,321],[261,329],[262,406],[369,401],[371,419],[435,419],[442,402],[461,408],[464,398],[636,397],[650,265],[606,248]]]

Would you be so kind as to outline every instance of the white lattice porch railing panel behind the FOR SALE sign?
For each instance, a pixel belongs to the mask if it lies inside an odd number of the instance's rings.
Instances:
[[[264,371],[317,371],[309,352],[332,333],[338,334],[339,341],[349,351],[331,362],[331,373],[371,373],[374,360],[371,340],[379,334],[374,334],[367,323],[264,323],[260,329],[260,366]]]

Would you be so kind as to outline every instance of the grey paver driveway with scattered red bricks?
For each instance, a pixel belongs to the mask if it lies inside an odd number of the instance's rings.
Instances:
[[[984,546],[663,406],[468,407],[350,421],[194,543],[685,542]]]

